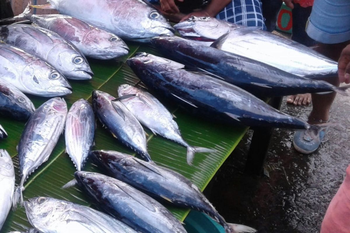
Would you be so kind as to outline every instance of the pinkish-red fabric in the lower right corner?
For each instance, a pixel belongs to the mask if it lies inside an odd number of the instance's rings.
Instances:
[[[345,179],[329,203],[323,218],[320,233],[350,232],[350,166],[346,169]]]

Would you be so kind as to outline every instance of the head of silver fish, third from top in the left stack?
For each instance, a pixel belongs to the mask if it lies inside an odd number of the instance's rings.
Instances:
[[[72,44],[58,44],[51,53],[57,54],[54,67],[64,71],[68,79],[88,80],[92,79],[93,73],[84,55]]]

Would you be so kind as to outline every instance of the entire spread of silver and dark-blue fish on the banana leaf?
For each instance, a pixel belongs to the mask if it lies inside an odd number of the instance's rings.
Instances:
[[[337,75],[335,61],[255,27],[192,17],[175,25],[185,39],[174,36],[169,22],[141,0],[48,2],[36,6],[29,1],[22,14],[1,20],[29,20],[36,25],[0,27],[0,113],[27,121],[17,148],[18,187],[12,159],[0,150],[0,183],[4,187],[0,191],[0,229],[11,204],[13,209],[24,204],[35,228],[30,232],[186,233],[180,221],[160,204],[165,201],[208,214],[226,233],[255,232],[251,227],[227,223],[195,184],[152,161],[142,126],[186,147],[189,165],[195,153],[210,156],[216,150],[190,145],[172,113],[151,93],[229,125],[307,129],[317,140],[327,124],[310,125],[255,95],[350,95],[349,86],[316,80]],[[31,14],[33,7],[56,9],[61,14]],[[166,57],[142,52],[127,60],[151,93],[128,84],[116,87],[118,97],[94,90],[92,105],[80,99],[68,111],[59,97],[72,93],[67,79],[89,82],[93,72],[86,57],[125,56],[129,48],[123,39],[150,42]],[[35,109],[23,93],[53,98]],[[113,137],[144,160],[116,151],[92,151],[95,114]],[[77,170],[75,179],[65,187],[78,184],[109,215],[51,197],[24,200],[26,180],[49,159],[64,129],[66,153]],[[6,137],[0,125],[0,138]],[[111,176],[84,171],[89,156]]]

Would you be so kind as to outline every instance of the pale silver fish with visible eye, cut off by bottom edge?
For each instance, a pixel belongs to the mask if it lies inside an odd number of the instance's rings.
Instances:
[[[25,202],[28,220],[42,233],[137,233],[105,213],[51,197]]]

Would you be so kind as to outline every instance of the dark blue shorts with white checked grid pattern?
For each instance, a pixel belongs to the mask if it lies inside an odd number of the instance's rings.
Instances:
[[[147,1],[152,4],[159,3],[159,0]],[[262,17],[261,0],[232,0],[216,18],[244,26],[261,27],[261,29],[266,30],[264,17]]]

